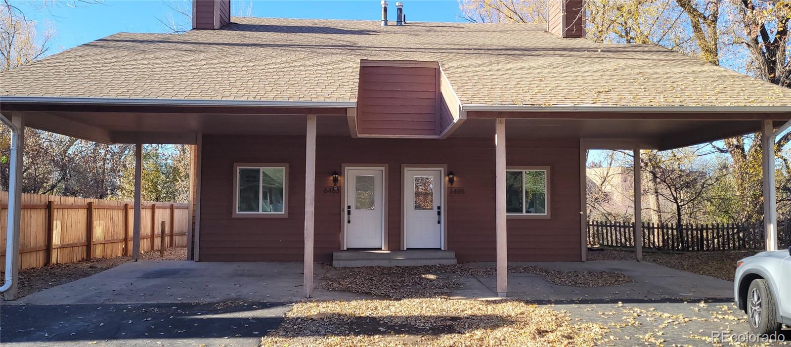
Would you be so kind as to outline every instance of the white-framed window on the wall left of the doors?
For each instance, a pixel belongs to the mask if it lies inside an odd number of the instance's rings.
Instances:
[[[234,217],[285,217],[288,165],[234,164]]]

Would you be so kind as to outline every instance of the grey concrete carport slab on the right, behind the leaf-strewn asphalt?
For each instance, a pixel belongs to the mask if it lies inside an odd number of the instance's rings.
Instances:
[[[533,273],[509,273],[508,296],[534,302],[578,301],[587,303],[644,302],[652,300],[732,300],[732,283],[714,277],[670,269],[650,262],[509,262],[510,266],[542,266],[560,271],[613,271],[634,282],[611,287],[579,288],[552,285]],[[494,266],[494,263],[479,263]],[[496,277],[464,277],[451,296],[487,298],[497,296]]]

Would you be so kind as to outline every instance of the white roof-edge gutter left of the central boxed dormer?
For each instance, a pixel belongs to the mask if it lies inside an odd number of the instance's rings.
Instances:
[[[135,99],[113,97],[0,96],[13,104],[99,104],[136,106],[357,107],[354,101]]]

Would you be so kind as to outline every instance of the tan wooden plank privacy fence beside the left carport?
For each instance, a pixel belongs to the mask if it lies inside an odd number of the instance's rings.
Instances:
[[[187,204],[144,202],[140,250],[186,246],[190,213]],[[3,191],[0,266],[6,262],[7,218],[8,193]],[[20,269],[131,255],[133,223],[131,202],[22,194]]]

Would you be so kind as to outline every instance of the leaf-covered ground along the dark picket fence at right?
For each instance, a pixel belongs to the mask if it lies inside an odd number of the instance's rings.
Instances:
[[[758,251],[708,251],[687,253],[643,252],[643,260],[672,269],[733,281],[736,262]],[[589,260],[634,260],[630,251],[589,251]]]

